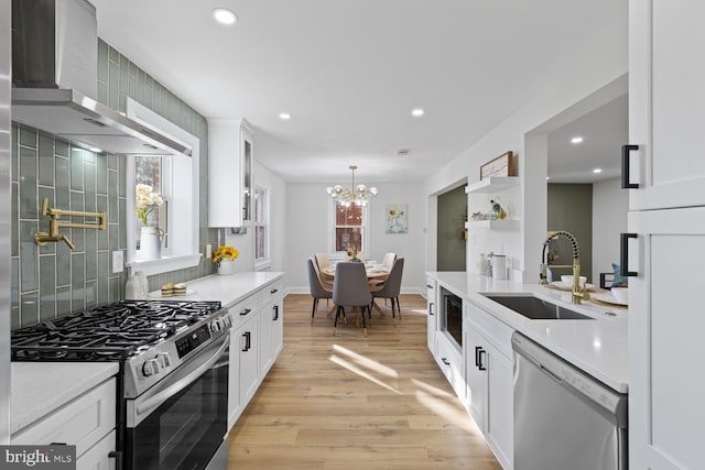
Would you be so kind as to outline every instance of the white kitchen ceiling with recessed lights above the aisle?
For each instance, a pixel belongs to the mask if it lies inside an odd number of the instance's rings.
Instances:
[[[296,182],[422,181],[626,29],[615,0],[91,2],[104,40],[205,117],[247,118]]]

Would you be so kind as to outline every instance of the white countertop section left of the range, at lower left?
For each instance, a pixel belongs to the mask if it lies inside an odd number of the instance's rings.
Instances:
[[[118,373],[115,362],[12,362],[10,434]]]

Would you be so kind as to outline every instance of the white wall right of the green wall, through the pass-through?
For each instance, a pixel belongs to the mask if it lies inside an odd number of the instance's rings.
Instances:
[[[593,185],[593,277],[612,272],[611,263],[619,263],[619,233],[627,231],[629,192],[621,188],[619,178]]]

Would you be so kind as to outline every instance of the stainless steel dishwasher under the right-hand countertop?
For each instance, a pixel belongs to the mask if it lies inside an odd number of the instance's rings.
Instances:
[[[627,395],[521,334],[514,351],[514,470],[626,470]]]

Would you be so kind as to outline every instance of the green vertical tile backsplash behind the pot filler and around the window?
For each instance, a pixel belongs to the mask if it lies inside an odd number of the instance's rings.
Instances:
[[[206,119],[106,42],[98,41],[98,101],[124,111],[126,98],[138,100],[200,139],[200,175],[208,174]],[[126,160],[96,154],[55,135],[12,123],[11,313],[12,328],[122,299],[127,272],[112,274],[112,250],[127,248]],[[207,177],[200,178],[199,245],[217,244],[207,227]],[[37,247],[34,233],[48,231],[40,215],[50,207],[107,211],[107,230],[70,229],[74,250],[64,243]],[[66,230],[66,229],[63,229]],[[214,272],[209,260],[198,266],[150,276],[150,289]]]

